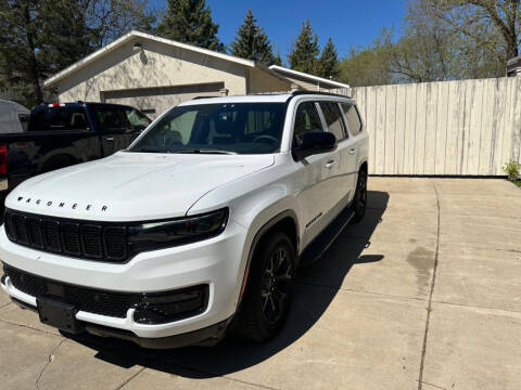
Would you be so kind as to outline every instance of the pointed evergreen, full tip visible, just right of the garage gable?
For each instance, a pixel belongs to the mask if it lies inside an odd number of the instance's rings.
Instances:
[[[264,66],[274,65],[277,61],[280,61],[280,56],[277,58],[274,55],[268,36],[256,23],[257,20],[253,16],[252,10],[247,10],[244,23],[239,26],[237,37],[231,42],[231,54],[254,60]]]

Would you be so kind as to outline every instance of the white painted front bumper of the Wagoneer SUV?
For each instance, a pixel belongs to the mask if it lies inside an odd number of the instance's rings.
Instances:
[[[244,275],[243,247],[246,231],[233,221],[217,237],[203,242],[143,252],[128,263],[111,264],[41,252],[9,240],[0,229],[0,259],[5,264],[42,278],[114,292],[162,292],[205,284],[208,301],[204,312],[165,324],[142,324],[134,320],[135,309],[125,317],[78,311],[76,318],[91,333],[127,339],[157,339],[163,344],[173,336],[206,329],[220,332],[234,314]],[[8,278],[2,289],[20,302],[36,308],[36,298],[15,288]],[[89,329],[90,325],[90,329]],[[211,330],[208,330],[208,328]],[[97,330],[98,329],[98,330]],[[101,329],[101,330],[100,330]],[[196,339],[198,337],[191,337]],[[190,337],[189,337],[190,339]],[[135,341],[135,340],[134,340]],[[149,341],[135,341],[151,344]],[[166,342],[176,344],[177,342]],[[162,347],[167,348],[167,347]]]

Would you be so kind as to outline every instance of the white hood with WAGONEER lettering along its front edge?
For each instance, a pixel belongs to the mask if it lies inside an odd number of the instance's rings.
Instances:
[[[272,155],[118,152],[29,179],[11,209],[86,220],[143,221],[185,216],[207,192],[274,164]]]

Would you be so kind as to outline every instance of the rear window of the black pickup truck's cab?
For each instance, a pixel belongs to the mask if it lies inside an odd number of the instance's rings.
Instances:
[[[27,131],[87,130],[84,107],[38,106],[30,112]]]

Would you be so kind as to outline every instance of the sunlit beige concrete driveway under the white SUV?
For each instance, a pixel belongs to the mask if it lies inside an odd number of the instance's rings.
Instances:
[[[366,219],[300,273],[265,346],[64,338],[0,295],[0,388],[520,389],[521,191],[370,178]]]

